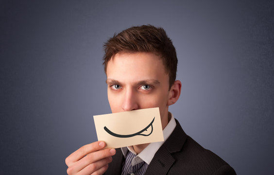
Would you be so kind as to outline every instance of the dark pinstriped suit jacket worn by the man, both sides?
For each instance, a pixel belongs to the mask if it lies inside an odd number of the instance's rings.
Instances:
[[[236,175],[222,158],[190,138],[179,122],[170,137],[155,153],[145,175]],[[121,175],[124,156],[121,149],[104,175]]]

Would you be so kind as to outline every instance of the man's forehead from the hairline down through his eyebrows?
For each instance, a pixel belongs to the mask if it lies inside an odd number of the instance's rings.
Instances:
[[[153,53],[119,53],[108,62],[106,76],[124,84],[157,84],[168,78],[168,73],[162,60]]]

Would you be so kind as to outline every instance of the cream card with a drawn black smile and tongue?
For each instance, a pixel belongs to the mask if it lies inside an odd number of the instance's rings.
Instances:
[[[159,107],[93,116],[106,148],[164,141]]]

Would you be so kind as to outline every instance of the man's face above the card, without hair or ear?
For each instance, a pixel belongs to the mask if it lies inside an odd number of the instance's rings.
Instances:
[[[106,83],[112,113],[159,107],[168,123],[169,75],[153,53],[117,53],[107,63]]]

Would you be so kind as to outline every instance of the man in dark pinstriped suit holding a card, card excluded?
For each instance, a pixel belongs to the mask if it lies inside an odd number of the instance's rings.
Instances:
[[[131,27],[104,45],[104,69],[113,113],[159,107],[163,142],[119,149],[87,144],[66,158],[69,175],[235,175],[223,159],[185,134],[168,111],[181,92],[177,56],[162,28]]]

